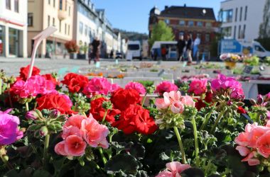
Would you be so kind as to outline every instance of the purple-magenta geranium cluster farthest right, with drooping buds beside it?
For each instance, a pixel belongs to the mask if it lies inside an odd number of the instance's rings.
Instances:
[[[242,84],[233,77],[226,77],[223,74],[219,74],[217,79],[212,80],[211,89],[215,94],[221,95],[230,90],[230,98],[237,100],[242,100],[244,98]]]

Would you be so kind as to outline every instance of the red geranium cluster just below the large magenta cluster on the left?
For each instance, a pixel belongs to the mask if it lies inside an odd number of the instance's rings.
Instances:
[[[64,94],[47,94],[41,96],[40,98],[37,98],[36,102],[38,103],[38,110],[57,109],[60,111],[60,113],[63,114],[73,113],[73,111],[71,110],[72,102],[70,101],[70,98]]]

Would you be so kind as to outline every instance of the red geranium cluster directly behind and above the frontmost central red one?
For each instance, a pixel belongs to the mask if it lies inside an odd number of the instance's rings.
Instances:
[[[114,107],[119,110],[125,110],[129,108],[129,105],[133,105],[141,102],[141,96],[138,91],[134,89],[117,89],[112,93],[111,101]]]

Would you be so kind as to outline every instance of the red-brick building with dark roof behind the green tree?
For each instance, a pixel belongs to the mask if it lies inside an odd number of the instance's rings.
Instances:
[[[173,29],[175,40],[180,35],[192,35],[193,40],[199,37],[201,41],[200,52],[209,52],[212,40],[218,32],[219,24],[215,18],[212,8],[198,8],[184,6],[165,6],[163,11],[154,7],[150,11],[149,17],[149,38],[153,25],[158,21],[164,21]]]

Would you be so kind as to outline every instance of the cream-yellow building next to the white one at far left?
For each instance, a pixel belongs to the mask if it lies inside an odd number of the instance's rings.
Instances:
[[[38,47],[38,55],[67,55],[65,42],[72,40],[73,10],[72,0],[28,0],[28,55],[31,55],[32,38],[48,26],[54,26],[58,30],[43,40]]]

